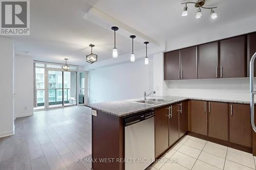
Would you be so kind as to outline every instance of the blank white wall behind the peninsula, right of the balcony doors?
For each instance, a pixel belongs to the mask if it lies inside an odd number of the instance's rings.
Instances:
[[[153,60],[103,67],[89,73],[89,103],[142,98],[153,88]]]

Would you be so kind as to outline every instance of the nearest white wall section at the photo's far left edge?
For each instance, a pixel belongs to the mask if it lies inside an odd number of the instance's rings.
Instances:
[[[0,137],[14,134],[14,50],[11,39],[0,37]]]

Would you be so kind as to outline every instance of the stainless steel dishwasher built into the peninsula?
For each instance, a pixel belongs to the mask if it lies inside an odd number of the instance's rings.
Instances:
[[[155,158],[155,113],[147,111],[124,119],[125,170],[144,170]]]

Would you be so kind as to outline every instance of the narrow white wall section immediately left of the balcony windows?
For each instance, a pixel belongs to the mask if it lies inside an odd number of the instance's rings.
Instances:
[[[33,58],[15,56],[15,116],[33,115]]]

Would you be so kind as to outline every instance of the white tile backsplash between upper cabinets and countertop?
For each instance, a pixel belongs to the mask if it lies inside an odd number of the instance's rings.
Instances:
[[[254,79],[256,82],[256,79]],[[249,78],[165,81],[167,95],[250,100]]]

